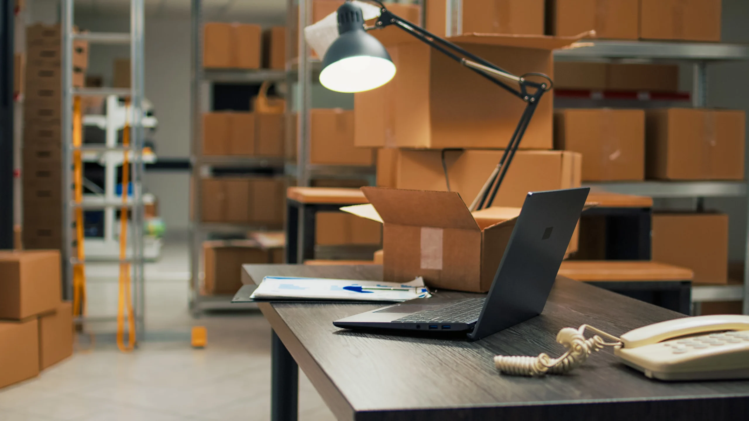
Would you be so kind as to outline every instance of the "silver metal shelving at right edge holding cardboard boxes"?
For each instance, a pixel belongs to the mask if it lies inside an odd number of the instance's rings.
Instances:
[[[749,46],[722,43],[676,43],[655,41],[581,40],[570,48],[554,52],[558,61],[688,62],[692,64],[692,106],[707,106],[707,65],[722,61],[749,60]],[[589,183],[614,193],[653,198],[691,198],[700,203],[706,197],[748,197],[746,181],[643,181],[639,183]],[[749,314],[749,212],[746,233],[744,285],[696,286],[692,301],[742,300]]]

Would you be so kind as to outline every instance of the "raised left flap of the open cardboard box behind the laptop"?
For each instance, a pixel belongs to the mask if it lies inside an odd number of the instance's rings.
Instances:
[[[362,187],[383,222],[397,225],[479,230],[479,225],[455,192]]]

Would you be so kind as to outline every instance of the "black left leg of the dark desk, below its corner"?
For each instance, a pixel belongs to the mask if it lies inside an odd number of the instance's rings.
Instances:
[[[270,358],[270,420],[297,421],[299,367],[276,331],[271,333]]]

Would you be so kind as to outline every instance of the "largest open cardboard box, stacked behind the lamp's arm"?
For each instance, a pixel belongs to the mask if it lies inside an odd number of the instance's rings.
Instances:
[[[397,28],[395,28],[397,30]],[[408,34],[388,52],[398,72],[372,91],[354,94],[354,145],[386,148],[504,148],[526,103]],[[574,37],[468,34],[454,43],[515,74],[554,79],[551,51]],[[542,97],[520,144],[551,149],[554,99]]]

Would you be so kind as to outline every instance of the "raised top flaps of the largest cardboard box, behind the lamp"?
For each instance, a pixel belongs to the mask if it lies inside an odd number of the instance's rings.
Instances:
[[[377,34],[377,31],[369,31],[369,34],[375,35],[384,46],[394,46],[401,43],[413,43],[421,42],[419,38],[413,37],[406,31],[398,31],[398,28],[384,28],[391,29],[386,34]],[[398,31],[392,31],[395,29]],[[470,43],[470,44],[487,44],[494,46],[516,46],[520,48],[530,49],[559,49],[565,46],[581,40],[584,37],[590,37],[595,34],[595,31],[586,31],[581,34],[577,34],[574,37],[552,37],[549,35],[515,35],[515,34],[462,34],[455,37],[447,37],[451,43]]]

